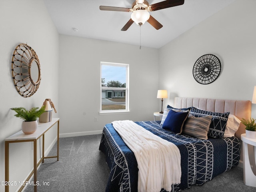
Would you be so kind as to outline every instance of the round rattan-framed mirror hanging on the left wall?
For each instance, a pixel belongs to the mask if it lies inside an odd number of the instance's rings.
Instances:
[[[12,55],[12,79],[18,93],[32,96],[41,80],[40,62],[36,52],[27,44],[19,44]]]

